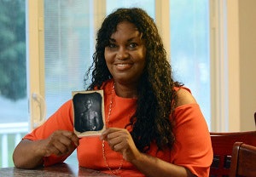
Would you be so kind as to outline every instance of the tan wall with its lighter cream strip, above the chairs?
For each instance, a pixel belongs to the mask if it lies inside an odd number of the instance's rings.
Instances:
[[[256,129],[255,7],[255,0],[227,0],[229,131]]]

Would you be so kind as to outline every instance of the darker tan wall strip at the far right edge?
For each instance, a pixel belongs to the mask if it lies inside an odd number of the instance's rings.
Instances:
[[[255,130],[256,1],[239,0],[241,130]]]

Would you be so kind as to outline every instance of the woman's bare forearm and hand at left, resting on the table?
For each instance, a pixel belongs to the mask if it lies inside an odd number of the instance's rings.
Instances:
[[[71,154],[79,146],[79,138],[72,131],[57,130],[44,140],[21,140],[15,147],[13,160],[17,168],[36,168],[43,165],[44,157],[52,154]]]

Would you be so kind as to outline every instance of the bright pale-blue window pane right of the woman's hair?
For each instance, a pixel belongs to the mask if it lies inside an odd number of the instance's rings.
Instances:
[[[173,74],[191,90],[211,128],[209,1],[170,2]]]

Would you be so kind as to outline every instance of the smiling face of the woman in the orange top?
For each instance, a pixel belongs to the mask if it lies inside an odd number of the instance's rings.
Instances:
[[[136,26],[119,23],[105,48],[105,60],[115,82],[137,83],[145,67],[146,48]]]

